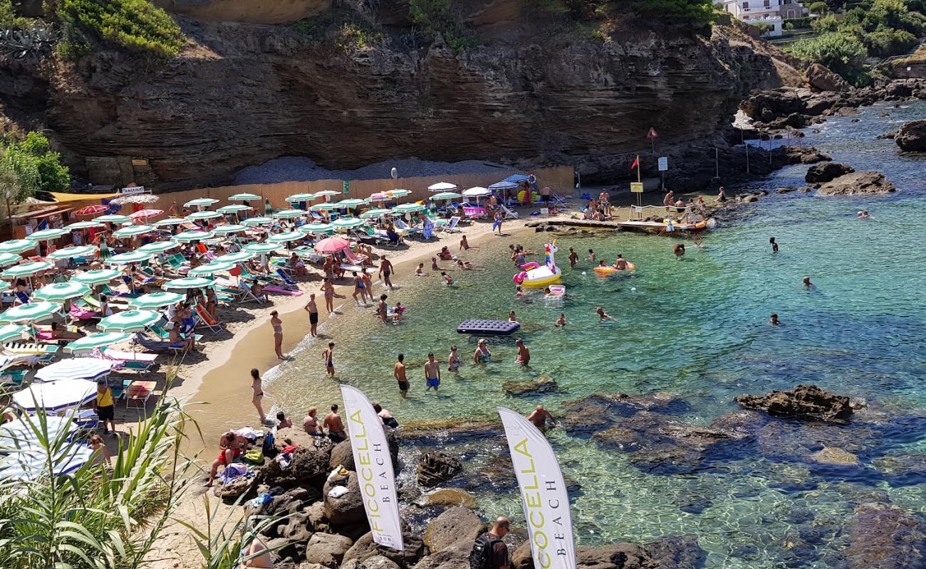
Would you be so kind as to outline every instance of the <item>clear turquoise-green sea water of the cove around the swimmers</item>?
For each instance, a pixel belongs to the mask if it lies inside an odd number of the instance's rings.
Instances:
[[[891,117],[878,117],[885,110]],[[836,161],[882,171],[899,189],[893,195],[772,194],[743,206],[735,223],[707,233],[703,249],[688,241],[681,260],[672,254],[678,241],[670,238],[619,233],[558,239],[557,262],[571,297],[562,305],[540,296],[515,298],[514,267],[507,256],[511,239],[494,238],[467,255],[484,269],[455,271],[457,287],[441,286],[439,277],[400,275],[402,288],[390,294],[390,303],[407,303],[402,324],[383,326],[369,311],[351,309],[326,325],[337,343],[338,376],[382,402],[400,422],[496,418],[496,405],[527,412],[538,402],[556,414],[562,402],[594,391],[665,390],[690,403],[690,411],[675,418],[708,424],[737,409],[736,395],[798,383],[900,408],[926,408],[926,156],[899,155],[894,142],[873,138],[924,115],[922,103],[862,109],[858,122],[833,119],[805,139]],[[749,187],[804,185],[806,170],[787,167]],[[874,218],[856,219],[860,209]],[[770,253],[771,236],[780,243],[779,254]],[[543,251],[544,237],[523,235],[517,241]],[[569,246],[582,259],[590,248],[608,262],[623,254],[637,270],[602,279],[587,262],[570,269]],[[804,276],[816,289],[801,285]],[[598,305],[617,322],[600,324],[594,315]],[[475,343],[456,333],[457,324],[468,317],[506,319],[508,310],[515,310],[522,323],[518,336],[531,349],[529,369],[515,365],[513,339],[492,340],[491,365],[466,365],[459,376],[444,374],[438,395],[424,392],[421,366],[429,351],[445,361],[456,343],[468,362]],[[569,319],[567,328],[553,326],[560,311]],[[783,327],[767,325],[773,312]],[[293,362],[269,375],[269,393],[291,414],[312,404],[326,409],[340,400],[337,384],[324,378],[322,348],[322,342],[307,342]],[[406,353],[413,386],[407,400],[399,397],[392,378],[399,352]],[[564,392],[515,398],[501,389],[506,381],[540,376],[555,378]],[[564,474],[582,485],[573,503],[582,544],[684,534],[696,536],[707,550],[707,567],[831,567],[841,543],[838,531],[820,529],[827,538],[809,554],[791,552],[789,540],[808,527],[845,524],[854,505],[871,496],[926,513],[926,484],[828,478],[811,475],[805,464],[772,464],[749,453],[695,474],[657,476],[634,467],[629,455],[600,450],[590,439],[556,429],[550,437]],[[917,434],[907,439],[913,442],[896,451],[926,452]],[[492,464],[496,452],[504,449],[457,449],[468,469]],[[810,476],[815,479],[810,489],[773,488],[782,480]],[[483,512],[520,517],[513,491],[487,486],[474,492]],[[691,502],[703,506],[694,509],[699,513],[684,507]]]

